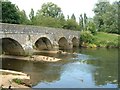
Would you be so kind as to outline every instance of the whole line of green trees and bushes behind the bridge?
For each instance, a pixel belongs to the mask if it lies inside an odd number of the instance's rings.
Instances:
[[[34,13],[34,10],[31,9],[29,17],[24,10],[21,11],[17,5],[10,1],[4,0],[0,2],[0,6],[2,7],[0,21],[3,23],[90,31],[93,35],[96,32],[119,34],[118,21],[120,21],[120,18],[118,18],[118,13],[120,2],[117,1],[112,4],[109,1],[96,3],[95,8],[93,8],[95,16],[88,18],[86,13],[80,14],[79,22],[76,21],[74,13],[65,19],[61,8],[52,2],[44,3],[37,13]]]

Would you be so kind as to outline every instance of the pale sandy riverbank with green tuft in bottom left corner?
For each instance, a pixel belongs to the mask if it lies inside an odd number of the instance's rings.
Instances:
[[[29,88],[28,82],[23,82],[25,80],[30,81],[30,76],[25,73],[12,71],[12,70],[2,70],[0,69],[0,88]]]

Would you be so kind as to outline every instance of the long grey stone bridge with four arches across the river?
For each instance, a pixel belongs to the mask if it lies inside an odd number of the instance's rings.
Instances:
[[[28,50],[72,49],[79,46],[79,31],[0,23],[1,53],[22,55]]]

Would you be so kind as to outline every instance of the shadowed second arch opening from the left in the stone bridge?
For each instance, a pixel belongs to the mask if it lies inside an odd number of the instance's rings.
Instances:
[[[51,50],[53,48],[51,41],[47,37],[40,37],[35,42],[37,50]]]

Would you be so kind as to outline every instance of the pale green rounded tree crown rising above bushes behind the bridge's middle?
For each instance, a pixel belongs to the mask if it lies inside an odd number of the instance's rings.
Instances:
[[[61,8],[52,2],[44,3],[42,9],[38,10],[38,15],[59,18],[62,14]]]

